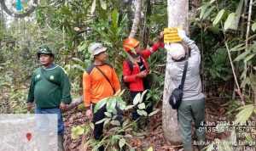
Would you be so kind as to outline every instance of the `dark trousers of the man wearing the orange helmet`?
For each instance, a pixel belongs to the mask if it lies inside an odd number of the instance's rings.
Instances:
[[[137,93],[143,93],[143,92],[130,92],[131,99],[130,99],[129,103],[131,105],[133,104],[133,99],[136,97]],[[146,105],[145,110],[149,114],[153,111],[153,100],[152,100],[152,98],[149,98],[148,100],[146,100],[147,94],[148,94],[148,92],[146,92],[146,94],[143,97],[143,103],[145,103],[145,105]],[[137,114],[137,109],[138,109],[137,105],[135,107],[133,107],[133,109],[132,109],[132,116],[131,116],[132,120],[137,120],[141,117],[141,115]]]

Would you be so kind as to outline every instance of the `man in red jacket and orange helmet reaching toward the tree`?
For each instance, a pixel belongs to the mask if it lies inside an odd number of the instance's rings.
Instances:
[[[146,59],[159,48],[164,47],[163,36],[164,32],[160,33],[160,36],[157,38],[157,41],[154,42],[151,48],[146,50],[141,50],[139,41],[135,38],[126,38],[124,42],[124,48],[127,53],[129,53],[132,59],[125,59],[123,62],[123,76],[125,83],[128,83],[130,89],[130,103],[136,97],[137,93],[142,93],[144,90],[150,89],[148,81],[148,64]],[[131,50],[132,49],[132,50]],[[143,103],[146,105],[146,111],[149,114],[153,110],[152,100],[148,99],[146,101],[146,96],[143,98]],[[132,120],[138,121],[138,127],[145,129],[147,124],[147,117],[141,117],[137,114],[137,106],[133,108],[132,111]]]

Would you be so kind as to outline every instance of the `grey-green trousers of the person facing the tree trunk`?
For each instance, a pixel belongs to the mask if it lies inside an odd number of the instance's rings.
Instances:
[[[204,142],[205,131],[205,98],[183,100],[177,110],[178,123],[181,129],[184,151],[193,151],[192,124],[195,121],[195,133],[198,142]],[[200,147],[201,148],[201,147]]]

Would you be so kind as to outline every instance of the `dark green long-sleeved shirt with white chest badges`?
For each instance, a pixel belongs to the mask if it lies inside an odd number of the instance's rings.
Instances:
[[[44,76],[42,76],[42,72]],[[51,69],[39,67],[32,74],[26,103],[35,101],[37,107],[42,109],[59,108],[61,102],[71,103],[70,91],[67,74],[60,66],[56,65]]]

